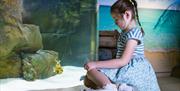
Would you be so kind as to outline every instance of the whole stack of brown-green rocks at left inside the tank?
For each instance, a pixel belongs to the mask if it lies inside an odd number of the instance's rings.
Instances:
[[[22,1],[0,0],[0,78],[34,80],[61,73],[58,53],[39,50],[39,27],[22,24]]]

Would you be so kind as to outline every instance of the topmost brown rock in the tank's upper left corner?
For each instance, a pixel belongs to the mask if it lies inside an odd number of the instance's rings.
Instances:
[[[22,0],[0,0],[0,16],[8,25],[22,23]]]

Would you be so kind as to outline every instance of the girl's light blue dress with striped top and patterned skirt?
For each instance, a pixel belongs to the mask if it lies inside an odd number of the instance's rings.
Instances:
[[[133,56],[129,63],[119,69],[99,69],[113,83],[134,86],[138,91],[160,91],[155,72],[144,56],[143,34],[139,27],[122,32],[117,43],[116,58],[120,58],[128,40],[137,40]]]

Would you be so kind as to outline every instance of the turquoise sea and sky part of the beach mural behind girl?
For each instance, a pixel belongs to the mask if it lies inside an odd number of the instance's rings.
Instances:
[[[145,49],[168,51],[180,49],[180,11],[139,8],[140,22],[145,31]],[[118,29],[110,15],[110,6],[99,7],[97,30]]]

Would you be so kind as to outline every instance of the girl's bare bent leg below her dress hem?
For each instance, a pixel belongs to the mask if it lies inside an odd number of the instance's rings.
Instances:
[[[96,84],[97,87],[102,88],[103,86],[110,84],[110,80],[97,69],[92,69],[87,72],[87,78]]]

